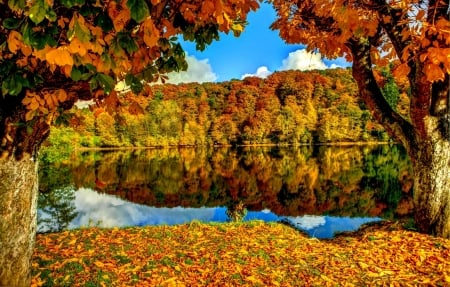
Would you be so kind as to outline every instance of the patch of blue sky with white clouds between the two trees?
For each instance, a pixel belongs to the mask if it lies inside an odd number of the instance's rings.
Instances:
[[[232,33],[221,34],[220,40],[205,51],[197,51],[194,43],[182,42],[190,68],[187,72],[169,75],[171,81],[227,81],[250,74],[264,77],[279,70],[349,65],[343,59],[329,61],[318,54],[308,54],[303,45],[286,44],[278,31],[269,28],[275,17],[273,8],[263,3],[260,9],[248,15],[249,24],[239,37]]]

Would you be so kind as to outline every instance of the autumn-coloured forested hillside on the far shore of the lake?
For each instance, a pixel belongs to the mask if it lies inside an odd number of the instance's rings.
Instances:
[[[408,96],[386,75],[383,92],[401,111]],[[95,104],[74,107],[52,129],[47,149],[390,140],[358,98],[350,69],[147,85],[138,95],[121,92],[105,101],[119,112]]]

